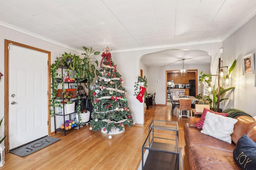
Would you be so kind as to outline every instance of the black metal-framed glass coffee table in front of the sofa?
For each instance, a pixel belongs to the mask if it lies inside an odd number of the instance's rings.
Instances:
[[[178,122],[153,120],[142,146],[142,170],[179,169]]]

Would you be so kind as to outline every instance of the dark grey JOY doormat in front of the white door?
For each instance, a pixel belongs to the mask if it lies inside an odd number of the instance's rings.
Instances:
[[[44,147],[47,147],[48,145],[51,145],[52,143],[54,143],[58,140],[60,140],[60,139],[55,138],[55,137],[46,136],[46,137],[38,139],[32,143],[24,145],[22,147],[18,147],[14,150],[10,150],[10,152],[13,154],[16,154],[18,156],[27,156],[27,155],[32,154]]]

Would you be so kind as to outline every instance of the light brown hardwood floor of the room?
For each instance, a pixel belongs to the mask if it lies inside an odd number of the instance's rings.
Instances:
[[[146,111],[144,127],[125,127],[124,133],[112,135],[112,139],[108,139],[108,135],[101,132],[90,131],[89,125],[74,129],[66,136],[63,133],[54,134],[52,137],[61,140],[33,154],[20,157],[7,153],[6,162],[0,170],[137,170],[141,161],[141,148],[148,135],[151,121],[178,121],[176,116],[171,115],[171,107],[150,106]],[[178,121],[179,147],[182,147],[183,158],[183,125],[187,121],[187,117],[182,117]],[[183,159],[183,166],[184,170],[189,170],[187,160]]]

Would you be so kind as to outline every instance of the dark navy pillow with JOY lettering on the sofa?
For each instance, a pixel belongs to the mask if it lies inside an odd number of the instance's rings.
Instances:
[[[238,139],[233,157],[243,170],[256,168],[256,143],[246,135]]]

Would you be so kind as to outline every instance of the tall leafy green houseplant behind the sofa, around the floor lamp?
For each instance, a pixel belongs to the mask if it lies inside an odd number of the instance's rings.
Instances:
[[[234,67],[236,66],[236,60],[234,60],[234,62],[232,63],[232,66],[230,67],[230,69],[228,70],[228,76],[231,74],[232,70],[234,69]],[[200,74],[202,74],[202,71],[200,72]],[[205,78],[207,77],[207,78]],[[205,80],[205,82],[207,82],[208,84],[210,84],[210,74],[202,74],[202,76],[199,77],[200,80]],[[199,81],[200,81],[199,80]],[[224,76],[224,80],[226,80],[226,76]],[[216,79],[215,79],[216,81]],[[223,85],[223,84],[222,84]],[[210,104],[210,108],[213,111],[218,111],[218,97],[220,97],[220,102],[227,100],[228,98],[223,98],[226,94],[226,92],[234,89],[235,87],[230,87],[230,88],[226,88],[224,89],[222,86],[220,86],[220,95],[218,95],[218,88],[215,88],[215,85],[212,87],[212,92],[210,92],[209,96],[202,96],[201,94],[199,94],[197,96],[197,98],[199,98],[200,102],[205,102],[206,104]]]

